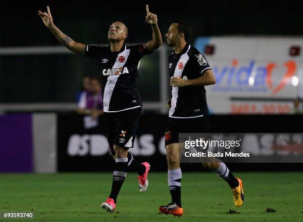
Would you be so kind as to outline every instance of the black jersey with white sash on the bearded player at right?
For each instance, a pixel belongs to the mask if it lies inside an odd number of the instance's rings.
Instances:
[[[184,80],[197,79],[205,70],[211,69],[204,55],[195,47],[186,44],[179,54],[173,52],[169,58],[170,77],[180,77]],[[206,91],[203,86],[173,87],[171,118],[195,118],[208,114]]]

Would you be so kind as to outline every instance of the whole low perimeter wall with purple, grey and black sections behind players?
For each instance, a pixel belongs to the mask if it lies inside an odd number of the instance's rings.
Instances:
[[[22,121],[21,121],[22,119]],[[300,115],[211,115],[216,133],[300,133]],[[85,130],[75,113],[7,114],[0,118],[0,172],[99,172],[112,170],[102,117],[100,125]],[[142,115],[135,147],[139,161],[153,171],[166,171],[163,132],[166,115]],[[9,128],[7,126],[10,126]],[[281,132],[279,132],[281,133]],[[14,147],[14,149],[12,149]],[[22,162],[23,161],[23,162]],[[302,171],[302,164],[229,164],[241,171]],[[186,171],[202,171],[201,164],[182,164]]]

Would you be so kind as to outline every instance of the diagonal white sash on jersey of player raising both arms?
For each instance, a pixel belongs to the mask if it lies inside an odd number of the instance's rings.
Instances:
[[[130,53],[130,49],[126,49],[125,46],[125,50],[122,51],[121,53],[118,54],[115,64],[113,65],[112,69],[114,68],[123,68],[127,58],[129,56]],[[119,56],[124,56],[125,57],[125,61],[124,62],[119,62]],[[103,95],[103,111],[104,112],[108,112],[109,111],[109,103],[110,103],[110,98],[113,92],[113,89],[116,86],[117,80],[119,78],[120,75],[110,75],[107,78],[107,82],[104,88],[104,95]]]

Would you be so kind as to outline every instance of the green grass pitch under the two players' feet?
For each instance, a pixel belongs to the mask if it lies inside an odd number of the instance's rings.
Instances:
[[[245,202],[233,205],[228,184],[212,172],[183,173],[180,218],[159,214],[170,195],[167,174],[149,175],[140,193],[128,173],[115,213],[100,208],[111,188],[111,173],[0,174],[0,212],[34,212],[37,222],[302,222],[303,173],[234,173],[243,179]],[[276,210],[265,213],[266,208]],[[229,210],[239,214],[228,214]],[[0,221],[2,221],[0,219]],[[3,220],[25,221],[25,220]]]

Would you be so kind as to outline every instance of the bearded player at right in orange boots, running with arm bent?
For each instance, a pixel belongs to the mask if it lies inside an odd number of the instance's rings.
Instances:
[[[208,108],[204,86],[215,84],[214,74],[204,55],[188,43],[190,28],[184,22],[172,23],[165,35],[167,44],[173,47],[169,56],[168,70],[172,98],[168,126],[165,132],[165,146],[168,165],[168,186],[172,202],[160,206],[164,214],[182,216],[181,168],[179,162],[179,133],[210,133]],[[168,103],[168,104],[169,104]],[[204,163],[203,166],[216,172],[232,188],[234,203],[243,204],[242,181],[235,178],[226,165]]]

